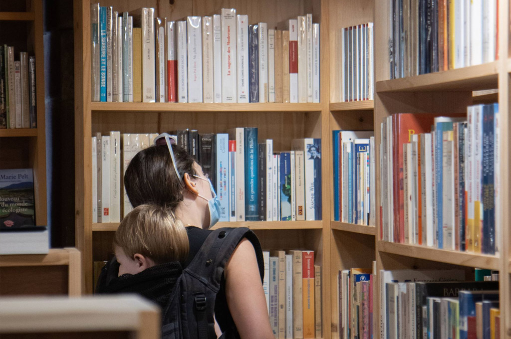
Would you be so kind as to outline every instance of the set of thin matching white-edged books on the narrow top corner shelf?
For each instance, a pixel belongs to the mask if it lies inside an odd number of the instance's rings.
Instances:
[[[341,29],[341,102],[373,100],[374,25],[373,22]]]

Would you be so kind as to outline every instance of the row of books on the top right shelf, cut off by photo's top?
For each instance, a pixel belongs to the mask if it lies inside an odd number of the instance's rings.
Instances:
[[[498,58],[497,0],[392,0],[390,78]]]

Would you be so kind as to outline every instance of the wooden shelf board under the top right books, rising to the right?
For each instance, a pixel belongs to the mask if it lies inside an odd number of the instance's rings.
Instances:
[[[420,76],[378,81],[377,92],[460,91],[497,88],[498,61]]]

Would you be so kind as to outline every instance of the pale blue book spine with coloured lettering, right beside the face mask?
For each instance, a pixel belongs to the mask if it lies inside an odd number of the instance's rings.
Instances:
[[[217,195],[220,201],[220,220],[229,221],[229,135],[217,134]]]

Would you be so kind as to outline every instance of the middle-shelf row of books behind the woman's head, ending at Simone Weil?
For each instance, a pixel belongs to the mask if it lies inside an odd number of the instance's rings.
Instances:
[[[171,133],[210,178],[220,200],[220,221],[321,220],[320,139],[295,139],[292,151],[273,153],[273,140],[258,144],[257,128]],[[132,209],[121,190],[122,178],[132,157],[156,136],[110,132],[92,137],[93,222],[119,222]]]

